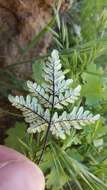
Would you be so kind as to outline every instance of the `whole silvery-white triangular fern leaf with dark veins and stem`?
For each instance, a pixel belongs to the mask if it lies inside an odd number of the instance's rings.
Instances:
[[[73,80],[65,79],[57,50],[52,51],[43,71],[44,84],[27,81],[30,94],[26,99],[23,96],[9,95],[9,100],[22,111],[25,121],[29,123],[28,133],[46,130],[44,151],[49,132],[56,138],[65,139],[70,135],[72,127],[80,130],[83,126],[94,123],[100,116],[93,116],[90,111],[84,111],[83,107],[74,107],[70,113],[64,111],[68,104],[73,104],[78,99],[81,86],[78,85],[74,89],[70,87]],[[61,114],[58,114],[58,109]]]

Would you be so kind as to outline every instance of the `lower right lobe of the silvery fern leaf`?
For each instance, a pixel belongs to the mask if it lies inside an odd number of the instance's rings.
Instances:
[[[64,111],[60,116],[55,112],[50,130],[53,135],[64,139],[66,134],[70,135],[71,127],[82,129],[82,126],[95,123],[99,118],[99,114],[93,116],[90,111],[84,111],[83,107],[74,107],[71,113]]]

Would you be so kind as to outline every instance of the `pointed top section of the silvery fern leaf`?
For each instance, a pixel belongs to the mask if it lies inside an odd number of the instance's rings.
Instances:
[[[60,92],[64,92],[65,89],[68,89],[68,86],[73,82],[72,79],[65,80],[57,50],[53,50],[43,70],[43,77],[47,83],[46,88],[51,94],[59,95]]]

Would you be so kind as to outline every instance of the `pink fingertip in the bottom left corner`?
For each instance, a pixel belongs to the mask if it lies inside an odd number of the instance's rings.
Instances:
[[[0,190],[44,190],[41,170],[22,154],[0,146]]]

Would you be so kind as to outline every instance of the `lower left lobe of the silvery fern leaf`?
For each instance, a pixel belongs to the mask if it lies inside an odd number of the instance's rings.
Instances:
[[[35,126],[35,130],[32,128],[33,132],[38,131],[39,128],[43,128],[44,125],[48,125],[50,120],[50,112],[48,109],[44,111],[42,106],[38,103],[36,98],[32,98],[30,95],[27,95],[26,100],[23,96],[13,97],[9,95],[9,100],[13,106],[22,111],[22,114],[25,118],[25,121],[31,125]],[[30,132],[31,128],[28,129]]]

